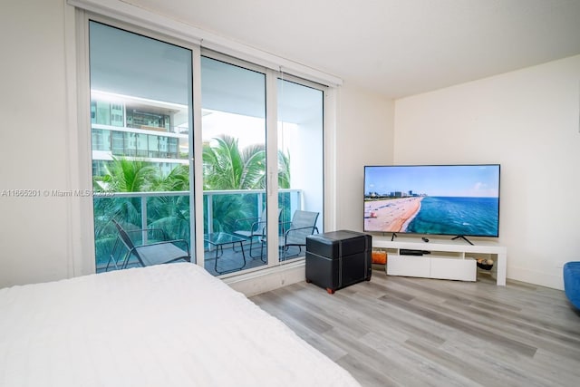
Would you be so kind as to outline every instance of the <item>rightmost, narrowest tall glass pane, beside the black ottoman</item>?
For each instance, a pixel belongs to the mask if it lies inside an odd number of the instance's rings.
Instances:
[[[304,256],[304,246],[293,246],[295,237],[324,232],[324,89],[286,78],[281,74],[276,82],[278,154],[284,166],[278,177],[285,225],[281,260]],[[309,213],[299,224],[293,224],[296,210]]]

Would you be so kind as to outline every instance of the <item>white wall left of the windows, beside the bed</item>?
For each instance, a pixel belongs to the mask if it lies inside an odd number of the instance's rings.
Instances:
[[[72,200],[49,192],[71,189],[64,2],[11,1],[2,8],[0,287],[74,270]],[[34,189],[39,197],[14,197],[14,189]]]

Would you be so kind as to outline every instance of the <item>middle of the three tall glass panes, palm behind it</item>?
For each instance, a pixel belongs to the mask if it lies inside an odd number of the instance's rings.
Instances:
[[[216,275],[267,262],[266,73],[249,67],[201,57],[205,267]]]

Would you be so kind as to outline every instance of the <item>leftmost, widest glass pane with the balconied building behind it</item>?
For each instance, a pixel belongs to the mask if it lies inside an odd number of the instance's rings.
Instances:
[[[137,256],[116,246],[113,221],[136,246],[183,240],[195,260],[192,53],[96,22],[89,36],[97,272],[140,266]],[[159,232],[138,231],[144,228]]]

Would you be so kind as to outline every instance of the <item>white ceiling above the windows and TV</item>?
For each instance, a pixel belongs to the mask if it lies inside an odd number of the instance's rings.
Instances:
[[[123,0],[391,98],[580,53],[580,0]]]

